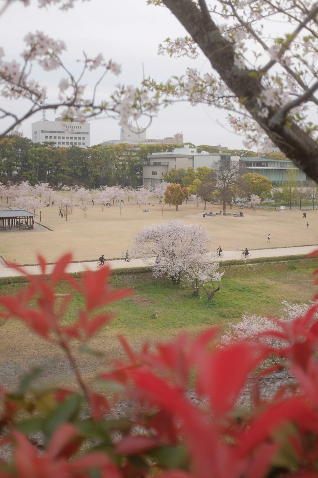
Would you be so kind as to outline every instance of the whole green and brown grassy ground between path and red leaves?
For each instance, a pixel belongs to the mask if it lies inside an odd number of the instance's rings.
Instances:
[[[115,317],[88,344],[103,353],[102,361],[76,351],[82,373],[89,378],[101,365],[124,358],[118,334],[139,350],[146,340],[150,344],[163,342],[177,333],[197,334],[214,325],[226,329],[228,322],[238,322],[244,312],[280,317],[283,300],[308,303],[317,292],[311,275],[316,267],[316,259],[226,266],[222,268],[225,274],[221,290],[212,303],[207,302],[204,294],[194,297],[190,289],[168,280],[154,280],[149,272],[113,275],[113,287],[133,287],[134,293],[105,308]],[[0,293],[16,294],[21,287],[25,284],[0,284]],[[68,293],[69,286],[62,282],[56,292]],[[81,307],[82,297],[75,293],[65,323],[71,324]],[[157,319],[152,319],[154,312],[158,313]],[[21,374],[38,365],[44,369],[45,381],[72,385],[72,370],[60,349],[15,319],[5,323],[0,332],[0,382],[4,386],[16,385]]]

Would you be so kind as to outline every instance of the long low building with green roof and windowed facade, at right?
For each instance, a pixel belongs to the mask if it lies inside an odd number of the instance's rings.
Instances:
[[[298,169],[290,160],[277,161],[276,159],[268,159],[265,155],[261,158],[241,158],[240,163],[246,168],[246,173],[257,173],[270,179],[273,186],[284,183],[287,179],[287,170],[293,168],[296,172],[296,181],[308,182],[307,174]]]

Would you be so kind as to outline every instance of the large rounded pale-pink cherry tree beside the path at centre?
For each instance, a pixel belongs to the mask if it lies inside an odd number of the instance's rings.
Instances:
[[[206,252],[212,241],[202,225],[168,221],[146,226],[133,238],[132,254],[153,264],[154,277],[168,277],[179,283],[189,268],[192,257]]]

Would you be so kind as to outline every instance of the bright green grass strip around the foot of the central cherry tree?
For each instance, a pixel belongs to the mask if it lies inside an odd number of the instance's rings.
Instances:
[[[203,291],[195,297],[190,289],[155,280],[150,272],[114,275],[114,288],[130,287],[134,293],[105,308],[115,314],[106,328],[112,336],[166,338],[185,329],[195,333],[211,325],[224,328],[228,322],[239,321],[244,312],[279,317],[283,300],[302,303],[314,295],[311,273],[316,267],[316,259],[225,267],[221,290],[211,303]],[[14,294],[21,287],[25,284],[3,284],[0,293]],[[62,282],[56,292],[68,293],[70,288]],[[75,293],[66,323],[72,322],[82,304],[82,297]],[[158,319],[151,318],[154,312]]]

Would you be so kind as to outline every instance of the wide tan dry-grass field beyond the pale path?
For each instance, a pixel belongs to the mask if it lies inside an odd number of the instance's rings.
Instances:
[[[318,243],[318,210],[307,210],[307,220],[302,211],[244,208],[244,217],[215,216],[203,218],[204,203],[183,204],[176,211],[175,207],[165,207],[164,217],[158,203],[150,198],[149,213],[131,203],[122,209],[120,217],[118,206],[102,207],[95,204],[87,211],[87,218],[79,207],[74,207],[66,221],[59,216],[57,203],[53,207],[43,207],[42,224],[52,231],[41,228],[33,231],[6,231],[0,233],[0,254],[9,261],[16,259],[20,264],[36,263],[36,254],[41,253],[48,262],[56,261],[65,252],[72,251],[73,259],[95,260],[101,254],[105,258],[119,258],[121,253],[133,245],[133,236],[144,226],[170,220],[183,220],[188,224],[203,223],[211,237],[215,238],[212,250],[221,245],[223,250],[236,250],[236,245],[243,250],[267,247],[297,246]],[[3,206],[5,206],[3,201]],[[207,204],[206,209],[218,212],[220,206]],[[238,206],[227,209],[238,212]],[[36,217],[40,220],[40,216]],[[39,228],[37,228],[39,229]],[[271,242],[267,243],[270,233]]]

